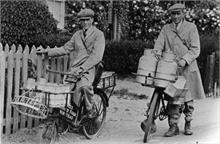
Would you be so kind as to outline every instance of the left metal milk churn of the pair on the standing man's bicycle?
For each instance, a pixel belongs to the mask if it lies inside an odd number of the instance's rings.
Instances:
[[[153,84],[152,78],[147,77],[147,81],[146,81],[146,77],[145,77],[149,75],[152,77],[155,76],[157,59],[151,51],[152,51],[151,49],[145,49],[144,55],[139,59],[137,74],[143,76],[137,76],[136,80],[137,82],[142,84],[148,84],[148,85]]]

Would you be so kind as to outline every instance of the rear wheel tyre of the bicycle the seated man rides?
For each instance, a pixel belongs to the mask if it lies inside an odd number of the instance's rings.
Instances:
[[[99,99],[95,100],[95,105],[97,108],[97,115],[89,119],[86,124],[82,126],[83,134],[87,139],[93,139],[100,134],[105,120],[106,120],[106,110],[107,110],[107,101],[104,98],[103,94],[100,92],[95,92],[94,97]],[[100,121],[98,120],[100,118]]]

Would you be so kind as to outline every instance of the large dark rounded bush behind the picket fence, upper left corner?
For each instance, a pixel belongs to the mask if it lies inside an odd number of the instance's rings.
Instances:
[[[33,45],[36,36],[57,30],[56,20],[42,1],[1,1],[1,42]]]

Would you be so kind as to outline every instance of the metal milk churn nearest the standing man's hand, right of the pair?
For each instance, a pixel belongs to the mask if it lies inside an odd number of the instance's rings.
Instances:
[[[177,63],[175,61],[176,55],[173,52],[163,52],[162,58],[158,62],[157,72],[154,85],[158,87],[167,87],[169,80],[176,79]]]

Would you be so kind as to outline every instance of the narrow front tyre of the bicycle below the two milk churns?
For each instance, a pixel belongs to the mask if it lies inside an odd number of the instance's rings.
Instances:
[[[158,96],[159,96],[159,93],[157,91],[154,92],[153,94],[153,99],[150,103],[150,108],[149,108],[149,115],[148,115],[148,118],[147,118],[147,122],[146,122],[146,129],[145,129],[145,134],[144,134],[144,139],[143,139],[143,142],[146,143],[149,141],[150,139],[150,135],[151,135],[151,127],[152,127],[152,124],[153,124],[153,121],[154,121],[154,113],[155,113],[155,110],[156,110],[156,107],[157,107],[157,100],[158,100]]]

